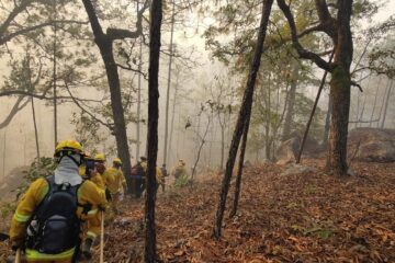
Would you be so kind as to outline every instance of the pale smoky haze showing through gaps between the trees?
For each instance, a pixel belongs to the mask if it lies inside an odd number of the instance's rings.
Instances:
[[[376,16],[375,20],[384,20],[393,14],[395,11],[395,1],[391,1],[388,5],[382,10]],[[196,20],[191,16],[191,23],[195,23]],[[199,113],[199,108],[201,102],[205,102],[210,96],[203,91],[203,85],[210,85],[213,81],[214,76],[216,75],[225,75],[227,76],[226,69],[223,68],[218,62],[212,64],[210,59],[210,53],[204,48],[204,39],[202,38],[202,32],[204,28],[201,28],[199,34],[195,34],[191,38],[183,37],[184,30],[177,27],[176,28],[177,39],[176,43],[178,46],[182,47],[180,49],[188,50],[194,46],[196,52],[194,53],[193,58],[198,61],[198,66],[190,71],[183,72],[180,77],[180,96],[178,98],[177,104],[177,114],[174,117],[174,136],[172,139],[172,151],[170,152],[170,167],[176,163],[178,159],[184,159],[188,162],[188,167],[192,165],[192,162],[195,159],[196,155],[196,134],[193,129],[196,129],[198,118],[196,114]],[[189,35],[193,35],[193,33],[188,33]],[[162,35],[163,42],[169,42],[169,34],[166,33]],[[165,44],[166,45],[166,44]],[[97,49],[94,46],[93,48]],[[161,164],[162,160],[162,147],[163,147],[163,127],[165,127],[165,94],[167,89],[167,71],[168,71],[168,58],[165,55],[161,55],[162,64],[160,65],[160,117],[159,117],[159,151],[158,151],[158,165]],[[99,60],[102,64],[102,60]],[[8,66],[5,65],[5,60],[0,57],[0,82],[3,82],[2,77],[8,71]],[[127,72],[123,71],[123,75]],[[316,72],[317,78],[320,78],[320,71]],[[174,83],[174,75],[172,77],[172,82]],[[232,78],[230,78],[232,79]],[[135,83],[137,82],[137,78],[134,78]],[[232,80],[233,81],[233,80]],[[369,84],[368,81],[363,83],[364,93],[359,93],[358,89],[353,89],[352,91],[352,107],[351,107],[351,117],[356,119],[356,111],[358,107],[358,96],[360,96],[360,103],[363,100],[366,100],[366,108],[364,110],[366,118],[370,117],[372,112],[372,104],[375,94],[375,87],[379,83],[379,79],[372,79]],[[380,105],[384,99],[386,80],[381,81],[380,90],[379,90],[379,101]],[[233,83],[236,88],[236,80]],[[173,85],[172,85],[173,87]],[[81,98],[89,99],[99,99],[100,96],[94,95],[94,90],[83,90],[79,92]],[[172,92],[170,99],[172,101]],[[314,98],[316,94],[316,87],[311,87],[305,89],[305,93],[308,94],[309,98]],[[394,91],[393,91],[394,93]],[[93,94],[93,95],[92,95]],[[395,94],[393,94],[394,96]],[[147,82],[143,82],[143,96],[147,98]],[[327,96],[327,93],[325,93]],[[326,111],[326,100],[327,98],[323,98],[320,106],[324,111]],[[170,101],[170,119],[171,119],[171,108],[172,102]],[[9,98],[0,98],[0,123],[7,117],[11,107],[13,106],[15,99]],[[37,128],[40,134],[40,147],[42,156],[50,157],[54,150],[54,127],[53,127],[53,107],[46,106],[45,102],[35,100],[36,105],[36,116],[37,116]],[[133,106],[136,108],[136,105]],[[144,116],[146,116],[147,104],[142,105]],[[376,108],[376,114],[379,114],[379,110]],[[72,103],[66,103],[58,106],[58,139],[67,139],[75,138],[75,126],[70,124],[71,114],[78,113],[79,108]],[[386,127],[395,127],[394,113],[395,105],[390,105],[388,113],[391,115],[387,117]],[[190,117],[192,121],[192,127],[185,129],[184,126],[187,124],[187,118]],[[362,117],[363,119],[363,117]],[[200,134],[204,132],[205,119],[201,119],[201,128]],[[351,125],[350,127],[353,127]],[[144,155],[145,151],[145,140],[146,140],[146,126],[142,125],[142,140],[143,145],[140,148],[140,153]],[[105,128],[102,129],[104,136],[111,137]],[[128,137],[136,138],[136,127],[134,124],[128,125]],[[226,130],[227,138],[232,135],[232,130]],[[205,145],[201,159],[201,167],[210,165],[212,168],[217,167],[219,163],[219,129],[218,125],[212,126],[207,134],[207,144]],[[114,139],[111,138],[105,144],[99,146],[99,149],[102,151],[108,151],[109,145],[114,145]],[[131,145],[131,155],[134,157],[132,160],[135,163],[135,152],[136,146]],[[110,156],[112,158],[113,156]],[[16,167],[29,165],[31,161],[35,158],[35,139],[34,139],[34,128],[32,121],[32,111],[30,104],[18,113],[18,115],[13,118],[11,124],[0,130],[0,179],[4,178],[4,174],[8,174]],[[169,159],[169,158],[168,158]]]

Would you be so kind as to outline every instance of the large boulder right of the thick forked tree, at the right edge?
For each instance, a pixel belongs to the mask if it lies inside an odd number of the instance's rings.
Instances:
[[[358,161],[395,161],[395,129],[352,129],[348,137],[348,155]]]

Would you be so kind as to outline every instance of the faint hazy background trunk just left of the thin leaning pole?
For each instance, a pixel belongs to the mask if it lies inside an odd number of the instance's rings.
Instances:
[[[286,110],[285,121],[284,121],[284,128],[282,133],[281,140],[287,140],[291,134],[291,127],[293,126],[293,115],[294,115],[294,105],[295,105],[295,98],[296,98],[296,87],[297,87],[297,77],[300,71],[300,65],[297,61],[294,61],[292,65],[292,76],[291,76],[291,89],[289,93],[289,105]]]

